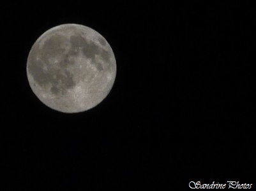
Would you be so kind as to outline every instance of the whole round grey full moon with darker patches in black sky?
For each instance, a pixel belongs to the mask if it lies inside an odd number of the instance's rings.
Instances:
[[[116,78],[109,43],[90,27],[57,25],[44,32],[27,58],[27,79],[40,101],[56,111],[90,110],[107,97]]]

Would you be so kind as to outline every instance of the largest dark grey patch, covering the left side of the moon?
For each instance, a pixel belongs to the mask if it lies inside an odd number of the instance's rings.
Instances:
[[[52,84],[51,92],[53,94],[59,94],[59,92],[64,94],[66,89],[75,86],[73,75],[66,70],[69,64],[74,63],[70,61],[69,53],[63,56],[64,48],[61,48],[61,45],[63,45],[64,41],[65,38],[63,36],[58,34],[52,35],[45,41],[41,50],[38,45],[34,45],[28,58],[27,69],[33,76],[34,81],[41,87]],[[74,42],[79,43],[77,39]],[[36,57],[41,59],[36,60]],[[60,60],[57,63],[50,63],[49,59],[54,57],[59,57]],[[47,70],[43,69],[43,64],[46,65]]]

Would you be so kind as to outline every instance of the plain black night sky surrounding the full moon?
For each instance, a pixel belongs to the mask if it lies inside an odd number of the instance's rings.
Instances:
[[[255,182],[255,9],[242,1],[9,3],[2,11],[1,190],[186,190]],[[116,56],[110,94],[65,114],[33,94],[34,41],[67,23]]]

